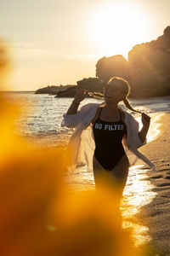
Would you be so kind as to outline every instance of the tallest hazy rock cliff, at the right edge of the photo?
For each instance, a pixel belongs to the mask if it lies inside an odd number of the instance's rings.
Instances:
[[[131,96],[170,95],[170,26],[150,43],[138,44],[128,52]]]

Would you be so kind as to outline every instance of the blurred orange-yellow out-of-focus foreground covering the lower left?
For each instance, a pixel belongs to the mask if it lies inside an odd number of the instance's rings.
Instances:
[[[0,47],[2,74],[8,59]],[[15,132],[19,114],[1,94],[0,255],[146,255],[122,230],[114,189],[71,191],[63,178],[71,151],[26,142]]]

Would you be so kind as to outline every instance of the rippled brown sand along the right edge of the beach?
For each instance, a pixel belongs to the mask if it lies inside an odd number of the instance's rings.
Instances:
[[[144,179],[153,185],[150,193],[156,194],[149,204],[141,207],[137,217],[140,224],[149,228],[149,244],[160,252],[156,255],[170,255],[170,113],[164,113],[157,122],[160,134],[139,149],[156,166],[156,172],[148,166],[143,168],[147,175]]]

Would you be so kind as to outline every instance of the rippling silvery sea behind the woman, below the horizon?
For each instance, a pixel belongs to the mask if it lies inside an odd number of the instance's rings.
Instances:
[[[16,120],[17,132],[31,137],[42,145],[53,146],[62,137],[69,136],[73,129],[61,127],[63,113],[71,105],[72,98],[55,98],[50,95],[36,95],[33,92],[6,92],[8,101],[20,104],[21,114]],[[88,102],[103,102],[100,99],[87,98],[80,107]],[[134,108],[145,113],[159,113],[170,110],[170,96],[151,99],[130,100]],[[123,104],[121,104],[124,108]],[[124,108],[125,109],[125,108]],[[132,113],[138,118],[138,113]],[[47,145],[47,144],[46,144]]]

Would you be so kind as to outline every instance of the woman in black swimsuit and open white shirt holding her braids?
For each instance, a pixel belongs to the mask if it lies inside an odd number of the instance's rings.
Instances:
[[[129,90],[129,84],[125,79],[113,77],[104,87],[105,102],[88,103],[77,111],[80,102],[88,95],[87,90],[79,88],[70,108],[63,115],[61,124],[77,127],[70,141],[75,153],[73,166],[76,166],[79,155],[83,152],[89,168],[92,162],[95,187],[99,187],[101,178],[106,175],[111,185],[118,185],[121,195],[127,182],[129,168],[125,148],[154,169],[150,160],[137,149],[146,143],[150,116],[133,109],[127,100]],[[143,127],[140,131],[139,123],[133,116],[118,106],[122,101],[128,109],[142,114]]]

